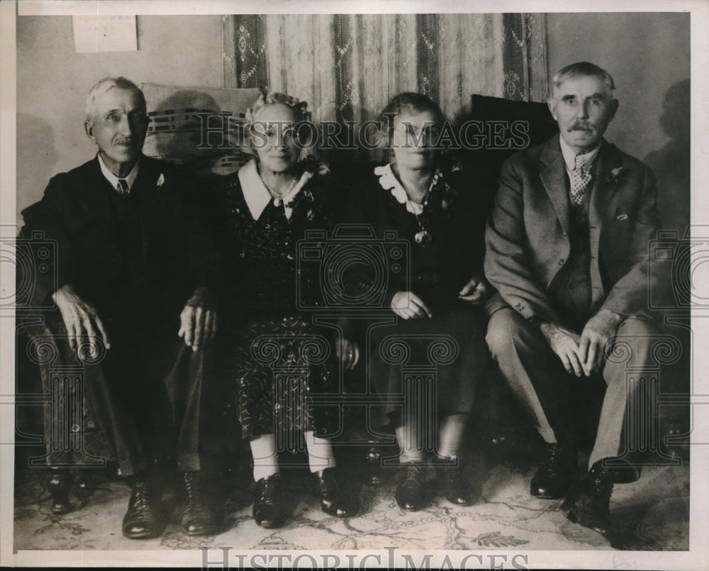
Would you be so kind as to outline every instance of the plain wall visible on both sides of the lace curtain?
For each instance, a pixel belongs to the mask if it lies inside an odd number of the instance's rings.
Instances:
[[[97,79],[222,84],[220,16],[138,16],[137,52],[74,53],[70,16],[18,17],[18,211],[48,179],[93,155],[83,101]],[[620,110],[608,139],[648,162],[666,227],[688,220],[689,16],[549,13],[549,70],[591,60],[615,78]],[[18,218],[19,220],[19,218]]]

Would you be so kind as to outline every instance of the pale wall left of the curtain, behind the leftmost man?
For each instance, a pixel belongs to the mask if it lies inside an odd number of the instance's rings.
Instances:
[[[137,21],[138,51],[77,54],[71,16],[18,16],[18,212],[40,199],[53,174],[96,153],[84,134],[84,99],[101,77],[222,86],[221,16]]]

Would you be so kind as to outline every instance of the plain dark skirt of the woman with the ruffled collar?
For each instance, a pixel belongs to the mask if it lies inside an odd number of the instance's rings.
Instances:
[[[413,414],[437,426],[469,413],[490,363],[486,323],[482,308],[461,301],[430,319],[372,328],[368,378],[381,402],[372,406],[372,428],[391,430]]]

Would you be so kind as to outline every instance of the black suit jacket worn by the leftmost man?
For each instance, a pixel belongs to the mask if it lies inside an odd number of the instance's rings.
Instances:
[[[129,260],[122,259],[118,244],[115,192],[94,157],[53,177],[43,199],[22,212],[23,238],[42,231],[56,249],[55,258],[44,260],[49,271],[35,272],[32,306],[72,284],[101,315],[112,307],[111,298],[123,294],[119,284]],[[203,224],[195,179],[181,167],[143,156],[130,194],[138,201],[145,307],[155,316],[177,318],[196,287],[218,284],[218,257]]]

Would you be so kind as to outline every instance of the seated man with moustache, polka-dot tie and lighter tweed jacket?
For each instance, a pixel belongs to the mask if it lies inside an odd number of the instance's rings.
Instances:
[[[618,109],[613,89],[588,62],[554,76],[549,109],[560,133],[503,165],[485,258],[498,290],[489,348],[547,442],[532,495],[566,496],[569,519],[601,533],[614,480],[637,477],[630,463],[618,467],[632,460],[624,418],[637,387],[610,350],[622,340],[627,366],[648,361],[647,246],[659,224],[652,173],[603,138]],[[571,375],[596,374],[607,387],[589,470],[576,482]]]

